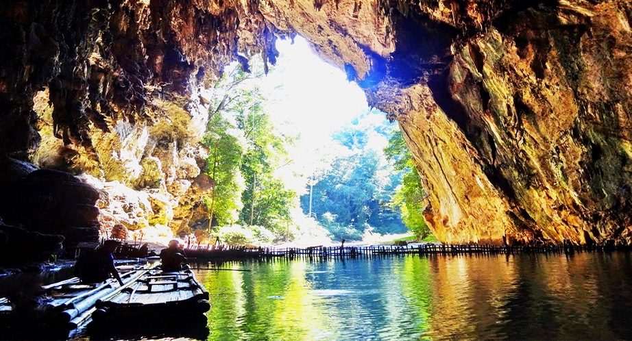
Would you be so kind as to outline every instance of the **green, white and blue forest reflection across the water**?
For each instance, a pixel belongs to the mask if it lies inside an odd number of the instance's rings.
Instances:
[[[419,338],[428,329],[428,260],[384,261],[297,260],[250,263],[250,273],[199,271],[212,303],[209,340]]]

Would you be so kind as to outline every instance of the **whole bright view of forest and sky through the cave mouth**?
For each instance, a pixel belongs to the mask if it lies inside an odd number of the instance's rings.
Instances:
[[[297,36],[276,66],[225,68],[202,143],[215,180],[187,233],[230,244],[422,240],[424,189],[398,125]],[[180,231],[178,231],[180,232]],[[323,239],[324,238],[324,239]]]

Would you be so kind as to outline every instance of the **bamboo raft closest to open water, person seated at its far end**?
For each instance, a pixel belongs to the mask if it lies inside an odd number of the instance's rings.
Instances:
[[[199,283],[191,268],[163,272],[159,268],[143,273],[134,283],[108,294],[95,304],[92,314],[96,325],[119,323],[152,324],[174,320],[204,320],[210,309],[208,292]],[[90,323],[91,325],[93,323]]]

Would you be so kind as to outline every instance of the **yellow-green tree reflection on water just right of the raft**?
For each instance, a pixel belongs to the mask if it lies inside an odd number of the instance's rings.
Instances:
[[[306,264],[271,262],[251,273],[201,271],[212,307],[210,340],[302,340],[326,320],[306,282]]]

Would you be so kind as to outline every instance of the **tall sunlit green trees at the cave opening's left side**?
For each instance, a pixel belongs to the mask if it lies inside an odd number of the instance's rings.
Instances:
[[[227,69],[215,84],[204,144],[210,149],[207,173],[216,190],[204,203],[218,225],[237,220],[287,231],[289,208],[297,199],[275,170],[287,163],[285,145],[291,138],[276,131],[266,112],[267,98],[256,84],[263,77],[263,62],[253,59],[250,66],[252,73],[239,66]]]

